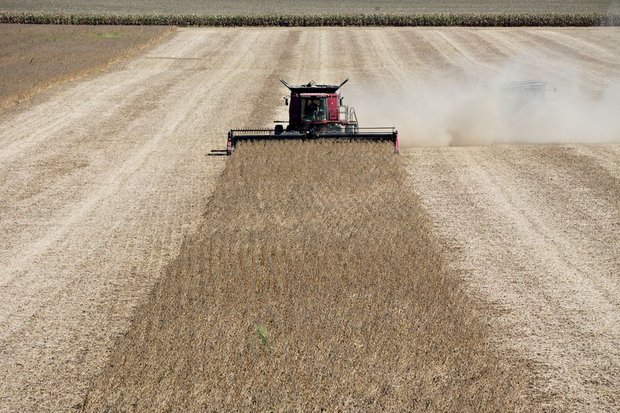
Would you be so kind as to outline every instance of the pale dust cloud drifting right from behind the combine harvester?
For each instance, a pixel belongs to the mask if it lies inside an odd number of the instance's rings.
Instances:
[[[595,89],[570,65],[553,78],[511,63],[484,79],[435,74],[397,91],[364,85],[347,101],[360,127],[396,126],[403,146],[620,143],[620,81]]]

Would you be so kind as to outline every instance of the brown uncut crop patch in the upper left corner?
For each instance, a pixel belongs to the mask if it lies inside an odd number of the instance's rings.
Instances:
[[[95,73],[171,29],[0,25],[0,108],[58,81]]]

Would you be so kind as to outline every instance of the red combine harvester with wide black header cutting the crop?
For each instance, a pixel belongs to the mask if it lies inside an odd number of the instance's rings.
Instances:
[[[291,91],[284,101],[289,106],[288,122],[276,122],[274,129],[231,129],[228,132],[226,153],[231,155],[237,143],[261,140],[315,140],[331,139],[344,141],[392,142],[399,150],[398,131],[394,127],[360,128],[355,109],[344,106],[338,90],[339,85],[282,84]],[[290,100],[290,104],[289,104]],[[286,128],[281,123],[288,123]]]

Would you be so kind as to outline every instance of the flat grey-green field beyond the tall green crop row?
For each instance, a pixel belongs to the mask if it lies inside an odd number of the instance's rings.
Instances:
[[[396,0],[359,0],[328,1],[315,0],[299,2],[294,0],[244,0],[244,1],[199,1],[177,0],[149,1],[136,0],[125,2],[103,0],[80,3],[75,0],[4,0],[0,11],[12,12],[63,12],[63,13],[110,13],[110,14],[357,14],[357,13],[583,13],[583,12],[618,12],[618,3],[614,0],[583,1],[396,1]]]

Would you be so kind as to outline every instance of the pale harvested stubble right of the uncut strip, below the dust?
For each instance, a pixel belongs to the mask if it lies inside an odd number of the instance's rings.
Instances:
[[[616,411],[620,255],[612,177],[588,147],[415,149],[411,178],[453,268],[533,361],[548,411]],[[610,155],[614,146],[592,147]],[[486,303],[486,304],[484,304]]]

